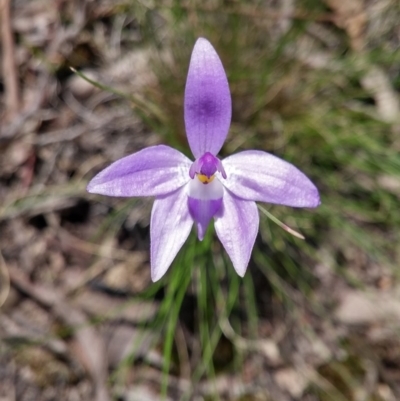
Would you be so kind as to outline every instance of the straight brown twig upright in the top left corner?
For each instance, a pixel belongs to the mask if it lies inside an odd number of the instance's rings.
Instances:
[[[11,1],[1,0],[0,4],[6,118],[12,119],[19,111],[19,83],[15,63],[14,38],[11,28]]]

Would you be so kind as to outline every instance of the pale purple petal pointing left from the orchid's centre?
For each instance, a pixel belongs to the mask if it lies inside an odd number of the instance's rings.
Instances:
[[[191,163],[169,146],[151,146],[102,170],[89,182],[87,190],[109,196],[168,194],[189,181]]]

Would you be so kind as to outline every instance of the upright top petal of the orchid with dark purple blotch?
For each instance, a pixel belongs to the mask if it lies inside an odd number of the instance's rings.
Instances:
[[[211,43],[199,38],[190,59],[185,89],[185,126],[197,159],[216,155],[231,123],[231,94],[224,67]]]

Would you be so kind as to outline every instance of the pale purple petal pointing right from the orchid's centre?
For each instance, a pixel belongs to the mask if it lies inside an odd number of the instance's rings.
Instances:
[[[223,185],[242,199],[293,207],[320,204],[315,185],[292,164],[266,152],[247,150],[222,161]]]

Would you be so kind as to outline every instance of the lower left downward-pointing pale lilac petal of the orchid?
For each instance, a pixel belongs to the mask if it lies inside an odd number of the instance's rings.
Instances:
[[[186,186],[156,198],[150,221],[151,279],[159,280],[190,234],[193,220],[187,205]]]

